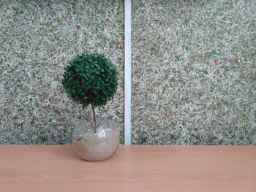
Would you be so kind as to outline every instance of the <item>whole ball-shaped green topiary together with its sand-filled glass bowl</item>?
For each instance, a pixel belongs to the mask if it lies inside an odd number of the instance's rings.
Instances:
[[[91,105],[92,118],[76,123],[72,135],[75,153],[87,161],[102,161],[116,152],[119,143],[117,123],[97,118],[95,107],[113,99],[117,89],[116,67],[104,55],[83,53],[69,61],[62,85],[73,101],[82,107]]]

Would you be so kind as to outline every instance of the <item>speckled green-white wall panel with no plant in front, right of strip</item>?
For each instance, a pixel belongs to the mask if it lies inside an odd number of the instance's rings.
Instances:
[[[255,1],[132,1],[132,143],[256,144]]]

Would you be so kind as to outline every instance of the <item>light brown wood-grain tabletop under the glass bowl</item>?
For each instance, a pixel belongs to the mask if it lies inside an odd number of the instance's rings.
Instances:
[[[256,191],[256,146],[119,145],[107,161],[70,145],[0,145],[0,191]]]

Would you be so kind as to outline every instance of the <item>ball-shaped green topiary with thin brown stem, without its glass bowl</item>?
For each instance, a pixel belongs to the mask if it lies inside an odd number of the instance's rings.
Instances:
[[[83,108],[91,104],[94,118],[92,127],[96,133],[95,107],[113,99],[118,85],[116,67],[104,55],[83,53],[69,61],[62,85],[69,98],[82,104]]]

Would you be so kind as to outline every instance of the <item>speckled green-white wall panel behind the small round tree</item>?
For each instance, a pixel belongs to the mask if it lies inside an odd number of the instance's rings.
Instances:
[[[1,1],[0,18],[0,143],[71,141],[75,121],[90,114],[67,98],[61,78],[83,51],[118,69],[118,92],[97,113],[119,123],[123,142],[123,1]]]

